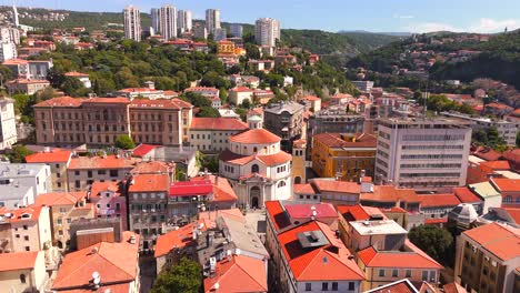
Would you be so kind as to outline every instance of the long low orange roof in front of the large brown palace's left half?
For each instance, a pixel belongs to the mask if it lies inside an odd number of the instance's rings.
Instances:
[[[116,155],[78,156],[70,160],[68,170],[132,169],[140,161],[136,158],[117,158]]]

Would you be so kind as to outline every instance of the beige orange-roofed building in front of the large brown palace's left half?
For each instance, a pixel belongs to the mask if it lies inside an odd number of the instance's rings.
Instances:
[[[84,191],[94,181],[117,182],[127,178],[140,159],[119,155],[77,156],[67,168],[70,191]]]

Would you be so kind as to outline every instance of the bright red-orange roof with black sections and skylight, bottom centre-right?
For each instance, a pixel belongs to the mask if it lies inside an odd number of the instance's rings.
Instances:
[[[298,234],[310,231],[321,231],[329,243],[314,249],[303,249]],[[304,223],[280,233],[278,241],[294,279],[299,282],[364,280],[356,262],[349,260],[349,250],[327,224],[317,221]]]

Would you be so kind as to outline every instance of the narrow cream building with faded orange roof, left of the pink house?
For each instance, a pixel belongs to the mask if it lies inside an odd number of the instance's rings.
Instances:
[[[50,206],[52,224],[52,242],[59,249],[70,244],[70,224],[80,219],[94,218],[94,209],[87,203],[87,192],[46,193],[38,196],[37,206]]]

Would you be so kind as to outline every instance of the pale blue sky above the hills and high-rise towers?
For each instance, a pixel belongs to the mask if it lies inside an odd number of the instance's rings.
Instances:
[[[2,0],[10,4],[11,0]],[[134,4],[142,11],[172,3],[202,18],[219,8],[228,22],[253,23],[260,17],[279,19],[282,28],[410,31],[497,32],[520,28],[520,0],[18,0],[19,6],[82,11],[121,11]]]

